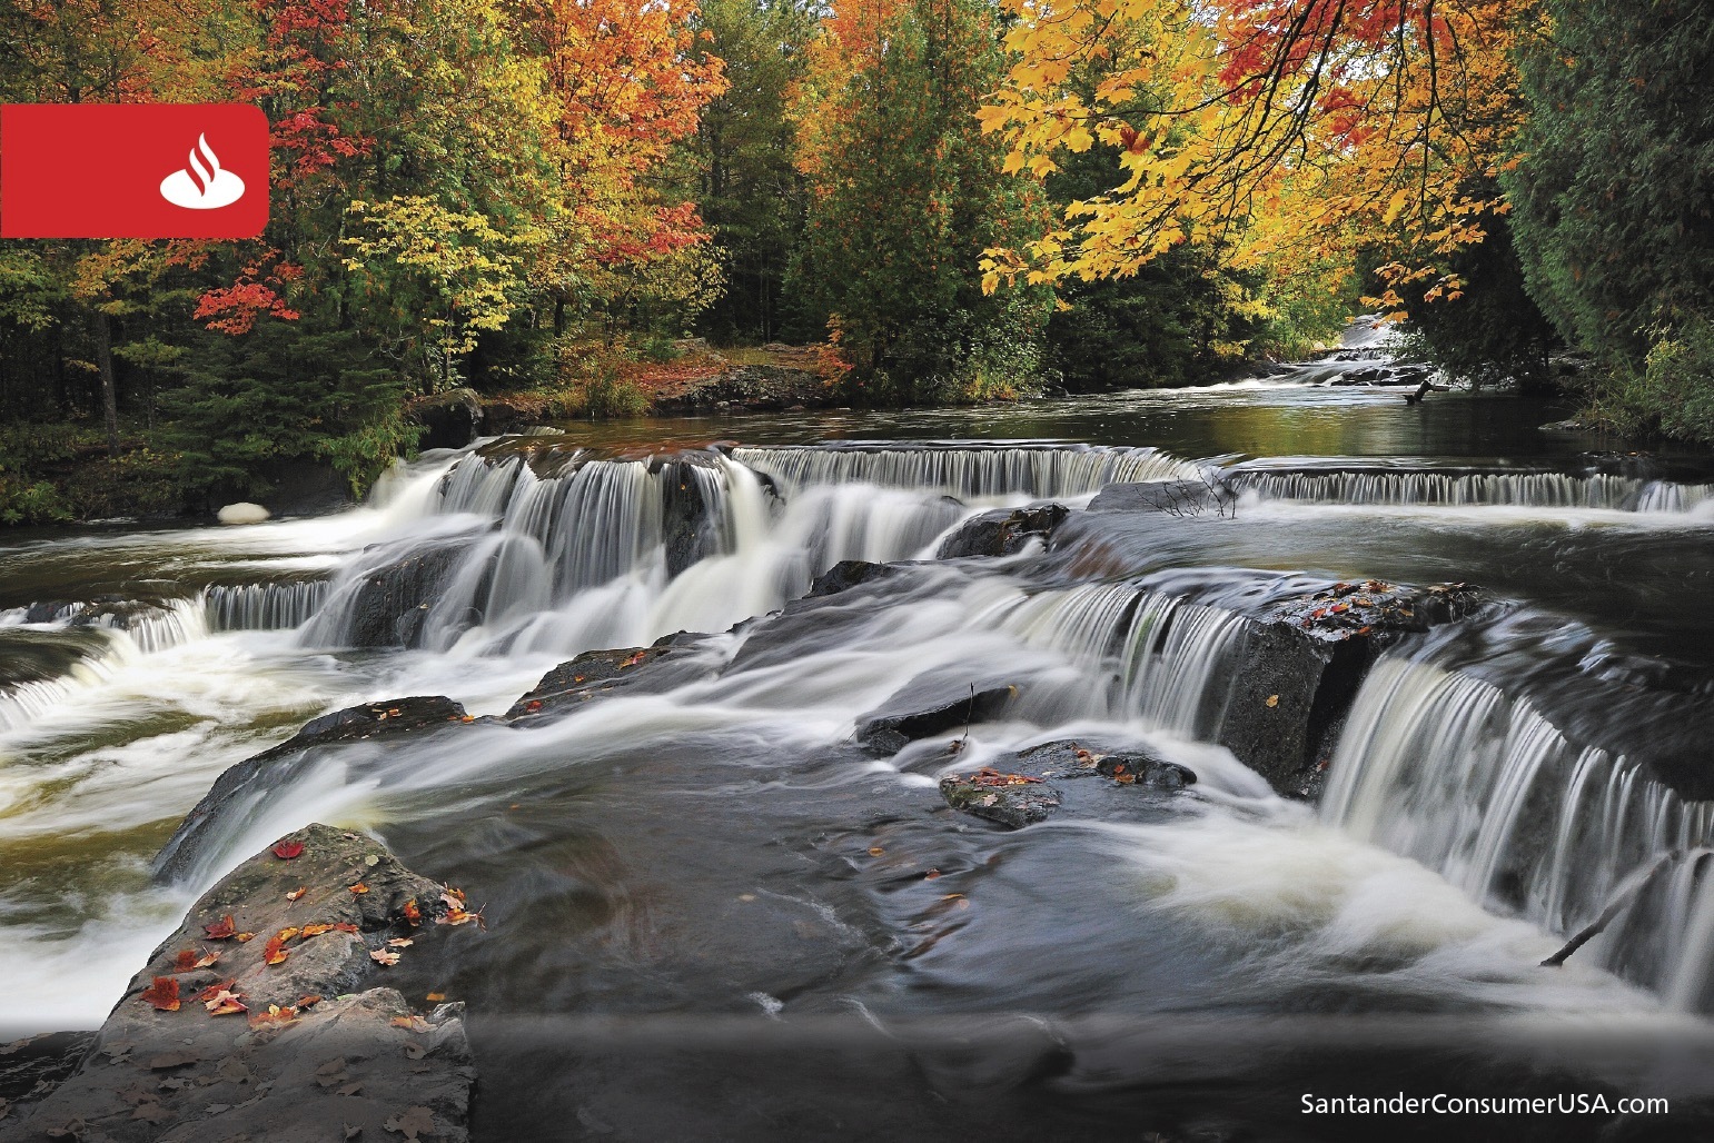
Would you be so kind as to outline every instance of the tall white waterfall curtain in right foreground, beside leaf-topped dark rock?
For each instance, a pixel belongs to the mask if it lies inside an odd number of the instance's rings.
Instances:
[[[1625,756],[1567,740],[1529,701],[1400,653],[1357,692],[1320,812],[1561,934],[1664,853],[1714,841],[1714,802],[1685,802]],[[1687,1009],[1707,984],[1695,949],[1714,949],[1702,867],[1681,864],[1664,907],[1632,910],[1589,953]]]

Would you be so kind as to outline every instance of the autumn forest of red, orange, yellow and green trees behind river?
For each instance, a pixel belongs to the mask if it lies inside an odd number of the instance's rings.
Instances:
[[[1714,444],[1711,55],[1693,0],[5,0],[3,101],[257,105],[273,189],[0,245],[0,519],[363,490],[439,394],[639,415],[692,344],[958,404],[1354,314]]]

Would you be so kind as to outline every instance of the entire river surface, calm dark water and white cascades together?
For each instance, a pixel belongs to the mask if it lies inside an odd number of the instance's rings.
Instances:
[[[98,1025],[202,889],[326,821],[487,903],[389,980],[470,1002],[478,1138],[1373,1138],[1301,1093],[1399,1090],[1669,1095],[1508,1131],[1699,1138],[1714,475],[1544,434],[1539,401],[1330,372],[571,427],[326,518],[0,536],[0,1033]],[[984,509],[1135,482],[1229,506],[1097,502],[1051,552],[936,559]],[[903,564],[794,603],[854,559]],[[377,608],[401,576],[420,601]],[[1488,603],[1390,646],[1318,802],[1280,797],[1217,745],[1255,617],[1363,577]],[[154,874],[223,769],[315,715],[500,715],[679,631],[708,637],[663,691],[314,749]],[[1018,701],[956,756],[855,744],[907,684]],[[941,804],[941,773],[1064,739],[1198,781],[1018,833]]]

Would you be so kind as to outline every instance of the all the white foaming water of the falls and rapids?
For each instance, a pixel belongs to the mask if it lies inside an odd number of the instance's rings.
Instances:
[[[255,814],[223,823],[189,881],[146,881],[147,857],[223,769],[314,715],[410,694],[500,713],[579,651],[725,632],[795,600],[840,560],[932,560],[982,507],[1082,504],[1109,482],[1200,471],[1150,449],[1046,446],[735,449],[696,464],[559,471],[466,454],[399,471],[369,506],[326,519],[106,540],[134,562],[177,567],[180,581],[206,572],[214,586],[129,625],[89,624],[69,670],[0,691],[0,855],[17,862],[0,883],[0,1026],[99,1023],[187,903],[288,828],[410,823],[444,812],[476,778],[526,781],[665,742],[807,751],[847,739],[905,680],[936,670],[1030,684],[1004,721],[972,730],[960,769],[1034,742],[1106,737],[1148,744],[1198,775],[1167,821],[1044,829],[1083,831],[1092,853],[1126,871],[1140,913],[1232,949],[1250,982],[1234,987],[1333,980],[1364,963],[1381,992],[1448,1008],[1688,1020],[1675,1006],[1700,1006],[1714,879],[1678,889],[1657,934],[1675,953],[1644,973],[1652,992],[1604,972],[1611,953],[1599,941],[1561,970],[1536,965],[1651,855],[1707,845],[1709,804],[1685,804],[1625,759],[1573,747],[1522,699],[1393,655],[1357,694],[1316,816],[1208,744],[1246,620],[1131,581],[1042,584],[1028,577],[1035,548],[920,569],[924,586],[794,644],[783,661],[734,667],[758,631],[746,627],[699,646],[708,677],[668,694],[612,697],[528,732],[476,728],[322,757]],[[1376,480],[1256,478],[1246,488],[1277,500],[1272,512],[1299,511],[1291,502],[1301,499],[1417,512],[1491,504],[1705,526],[1700,487]],[[684,495],[701,506],[694,535],[675,531],[672,506]],[[7,559],[70,566],[81,545]],[[435,550],[451,555],[406,646],[353,649],[377,576]],[[77,613],[26,620],[22,608],[0,617],[50,636],[72,631]],[[910,747],[869,766],[936,799]],[[1525,805],[1543,799],[1553,819],[1520,828]],[[55,883],[69,860],[75,876]],[[1496,900],[1501,881],[1507,901]]]

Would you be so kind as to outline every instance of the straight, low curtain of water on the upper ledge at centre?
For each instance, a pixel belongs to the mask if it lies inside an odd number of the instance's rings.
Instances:
[[[1042,444],[864,444],[732,449],[732,459],[788,492],[807,485],[871,483],[967,499],[1075,497],[1102,485],[1195,480],[1202,470],[1157,449]]]

